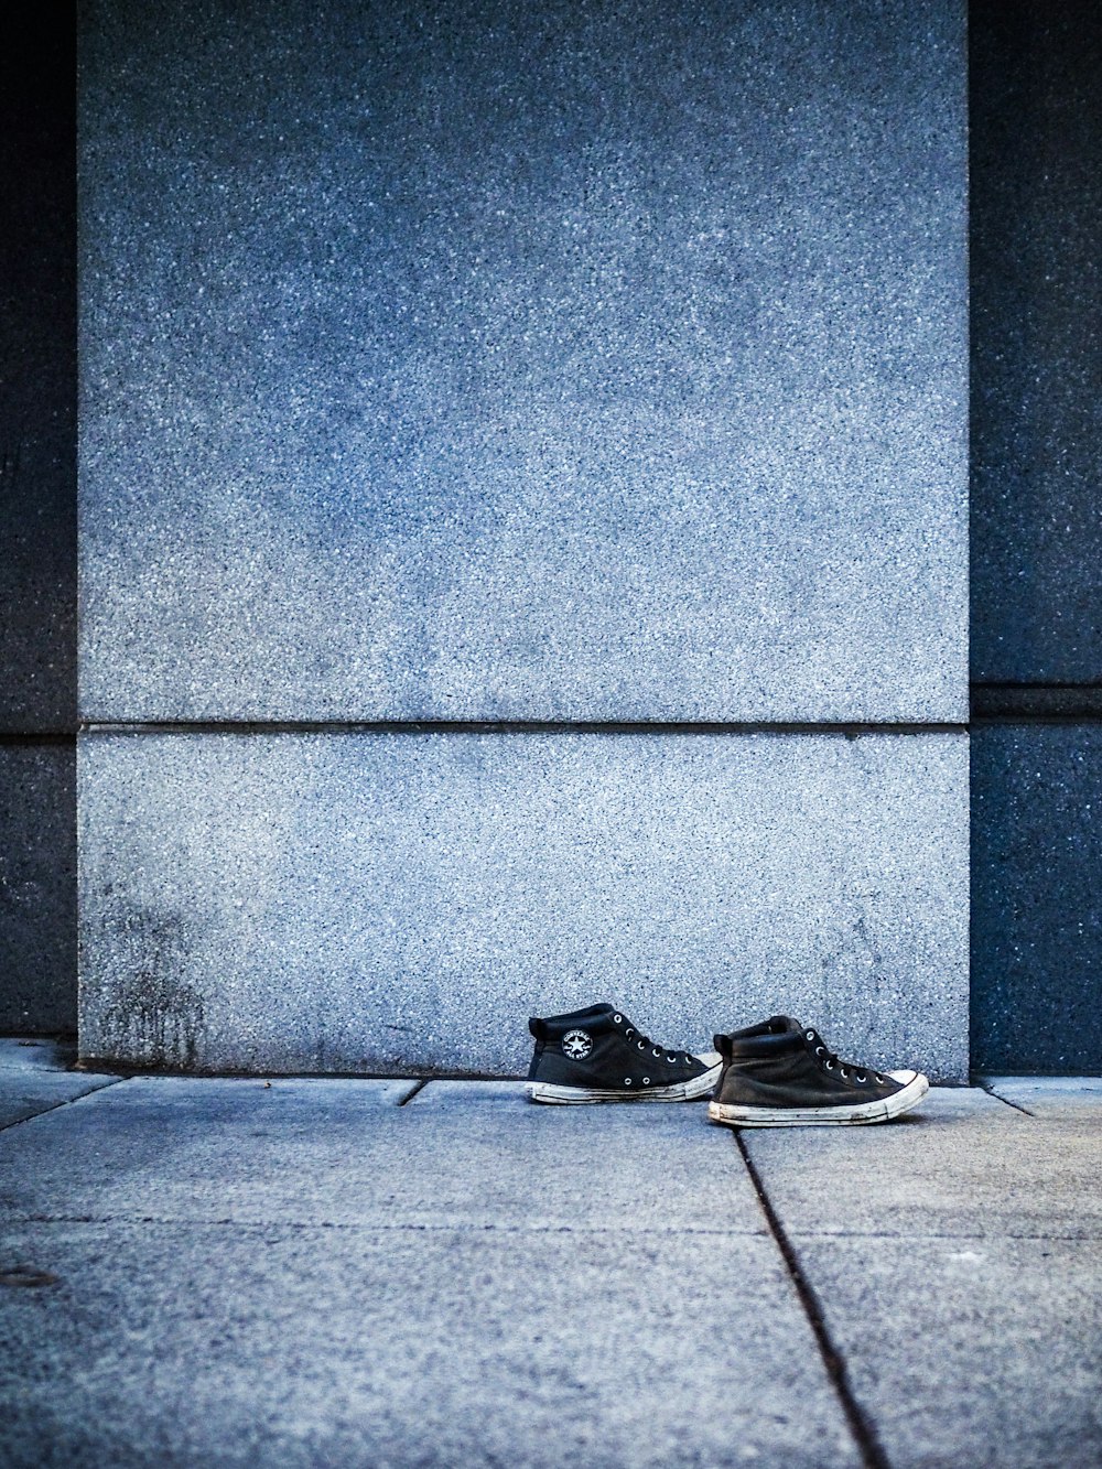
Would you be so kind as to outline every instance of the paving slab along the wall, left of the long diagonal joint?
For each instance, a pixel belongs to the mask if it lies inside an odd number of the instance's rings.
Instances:
[[[764,1219],[704,1103],[466,1105],[429,1083],[125,1081],[0,1140],[0,1213],[417,1225],[699,1230]]]

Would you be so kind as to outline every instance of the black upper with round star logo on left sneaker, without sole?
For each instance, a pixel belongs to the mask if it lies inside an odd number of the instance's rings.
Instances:
[[[533,1017],[529,1081],[601,1090],[667,1087],[708,1068],[688,1050],[667,1050],[613,1005],[591,1005],[567,1015]]]

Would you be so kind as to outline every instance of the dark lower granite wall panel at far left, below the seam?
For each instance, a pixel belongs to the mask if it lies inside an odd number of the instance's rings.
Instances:
[[[0,1031],[76,1028],[75,743],[0,740]]]

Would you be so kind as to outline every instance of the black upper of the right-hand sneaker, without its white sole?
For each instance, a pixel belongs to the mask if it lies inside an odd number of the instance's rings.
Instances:
[[[817,1030],[791,1015],[716,1036],[714,1044],[723,1058],[714,1099],[729,1106],[854,1106],[902,1091],[892,1077],[840,1061]]]

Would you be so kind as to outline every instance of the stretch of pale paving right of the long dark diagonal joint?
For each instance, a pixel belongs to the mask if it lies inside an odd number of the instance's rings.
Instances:
[[[998,1090],[1017,1105],[934,1089],[883,1127],[742,1133],[893,1469],[1102,1456],[1098,1083]]]

